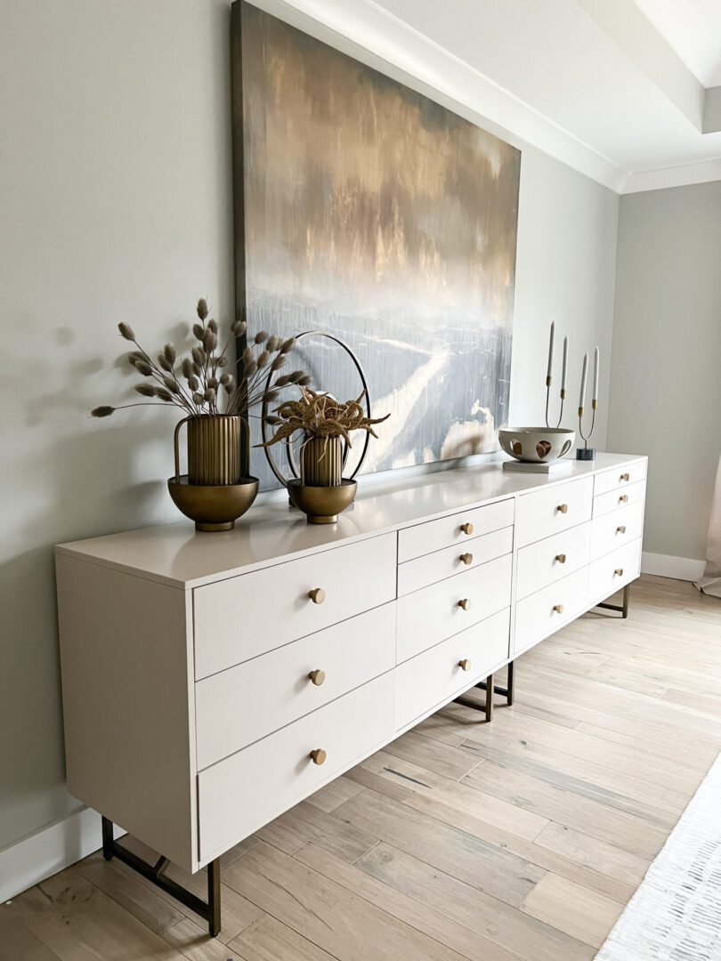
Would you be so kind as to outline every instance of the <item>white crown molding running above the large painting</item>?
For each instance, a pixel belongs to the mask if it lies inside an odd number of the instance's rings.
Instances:
[[[249,2],[432,96],[514,146],[532,145],[617,193],[629,177],[628,171],[373,0]]]

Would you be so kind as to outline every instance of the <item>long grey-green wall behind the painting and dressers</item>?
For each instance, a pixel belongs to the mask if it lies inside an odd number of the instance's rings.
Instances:
[[[171,411],[87,411],[130,396],[114,362],[119,320],[160,346],[177,342],[200,294],[231,316],[228,25],[227,0],[5,5],[0,849],[75,806],[63,789],[52,545],[177,517],[164,485]],[[571,394],[580,352],[599,343],[608,355],[618,198],[518,145],[511,411],[531,422],[551,319],[571,335]]]

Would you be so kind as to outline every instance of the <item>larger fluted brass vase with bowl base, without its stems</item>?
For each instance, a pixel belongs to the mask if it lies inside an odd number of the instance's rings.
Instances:
[[[178,437],[187,425],[187,474],[180,473]],[[253,504],[258,479],[248,476],[250,431],[244,417],[186,417],[175,429],[175,477],[167,485],[173,503],[197,530],[231,530]]]

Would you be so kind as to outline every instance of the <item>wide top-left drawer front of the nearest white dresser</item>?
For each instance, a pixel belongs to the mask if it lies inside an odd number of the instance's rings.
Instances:
[[[392,601],[395,586],[396,538],[384,534],[198,587],[195,679]]]

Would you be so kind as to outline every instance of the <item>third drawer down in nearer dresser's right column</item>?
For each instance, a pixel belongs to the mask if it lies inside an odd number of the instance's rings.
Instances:
[[[508,607],[510,569],[507,554],[399,598],[398,663]]]

